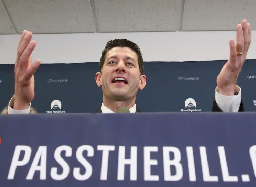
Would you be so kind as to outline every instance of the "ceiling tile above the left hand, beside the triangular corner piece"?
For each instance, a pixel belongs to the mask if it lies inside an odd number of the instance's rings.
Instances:
[[[17,32],[95,32],[90,0],[2,0]]]

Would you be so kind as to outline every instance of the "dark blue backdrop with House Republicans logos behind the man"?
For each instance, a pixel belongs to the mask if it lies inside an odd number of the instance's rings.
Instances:
[[[197,110],[211,111],[216,77],[225,62],[145,62],[147,85],[138,92],[136,104],[143,112],[179,112],[186,109],[185,101],[192,98]],[[58,111],[63,113],[95,112],[102,103],[101,88],[95,83],[98,65],[42,64],[35,73],[32,106],[40,113],[53,112],[51,103],[58,100]],[[14,93],[13,69],[14,65],[0,65],[1,108]],[[255,69],[256,60],[246,60],[237,82],[246,111],[256,110]]]

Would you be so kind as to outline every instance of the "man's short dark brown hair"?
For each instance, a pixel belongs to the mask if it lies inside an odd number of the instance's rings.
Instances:
[[[143,75],[144,66],[143,66],[143,58],[140,52],[140,48],[136,43],[127,39],[115,39],[115,40],[108,41],[104,50],[102,51],[102,56],[100,57],[99,72],[102,72],[102,67],[106,59],[106,53],[114,47],[129,47],[132,50],[134,50],[135,53],[137,53],[137,57],[138,57],[140,75]]]

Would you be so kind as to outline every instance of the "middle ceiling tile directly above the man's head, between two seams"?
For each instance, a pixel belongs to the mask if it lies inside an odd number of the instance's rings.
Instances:
[[[99,32],[176,31],[181,0],[94,0]]]

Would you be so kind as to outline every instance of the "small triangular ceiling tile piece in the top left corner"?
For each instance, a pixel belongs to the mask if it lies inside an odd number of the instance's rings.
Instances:
[[[15,34],[16,31],[12,22],[4,9],[2,1],[0,1],[0,34]]]

